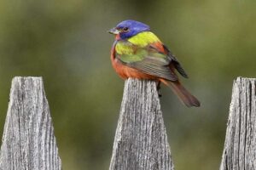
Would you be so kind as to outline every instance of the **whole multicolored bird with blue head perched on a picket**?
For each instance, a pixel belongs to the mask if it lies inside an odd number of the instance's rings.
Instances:
[[[182,65],[148,25],[137,20],[124,20],[108,32],[115,36],[111,62],[119,77],[154,80],[158,82],[158,90],[162,82],[172,88],[187,107],[201,105],[177,77],[178,72],[188,78]]]

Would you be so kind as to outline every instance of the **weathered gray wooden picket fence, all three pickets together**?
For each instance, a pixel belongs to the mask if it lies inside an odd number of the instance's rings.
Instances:
[[[220,170],[256,170],[256,79],[233,86]],[[153,81],[125,81],[109,170],[172,170],[160,100]],[[61,170],[40,77],[15,77],[0,152],[0,170]]]

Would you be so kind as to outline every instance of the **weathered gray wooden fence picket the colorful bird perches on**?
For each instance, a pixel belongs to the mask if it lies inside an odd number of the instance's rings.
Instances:
[[[156,82],[125,81],[109,169],[174,169]]]

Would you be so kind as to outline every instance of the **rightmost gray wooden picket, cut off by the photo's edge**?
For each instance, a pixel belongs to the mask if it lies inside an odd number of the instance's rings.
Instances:
[[[255,85],[253,78],[234,81],[220,170],[256,169]]]

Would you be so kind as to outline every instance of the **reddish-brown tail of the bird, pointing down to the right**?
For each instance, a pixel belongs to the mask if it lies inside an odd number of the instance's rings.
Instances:
[[[183,85],[176,81],[176,82],[170,82],[166,81],[164,79],[161,79],[160,82],[165,83],[168,87],[172,88],[172,91],[177,94],[178,99],[180,99],[184,105],[187,107],[199,107],[200,102],[198,99],[195,98],[192,94],[189,93],[189,91],[183,87]]]

